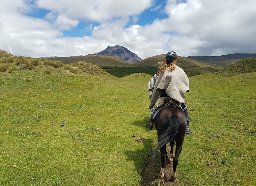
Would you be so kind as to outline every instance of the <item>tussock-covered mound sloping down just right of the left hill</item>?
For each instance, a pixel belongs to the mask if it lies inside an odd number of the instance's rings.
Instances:
[[[87,63],[84,61],[79,61],[73,63],[73,66],[77,67],[78,69],[82,70],[83,72],[86,72],[88,74],[97,74],[97,75],[106,75],[110,76],[105,70],[101,69],[97,65],[93,65],[92,63]]]

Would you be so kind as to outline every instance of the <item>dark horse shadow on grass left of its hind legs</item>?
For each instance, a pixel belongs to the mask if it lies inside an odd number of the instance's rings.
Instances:
[[[144,148],[136,151],[128,150],[125,152],[127,161],[134,161],[135,169],[141,175],[141,186],[156,185],[155,180],[158,178],[160,171],[160,156],[157,153],[156,158],[152,161],[152,139],[144,139]]]

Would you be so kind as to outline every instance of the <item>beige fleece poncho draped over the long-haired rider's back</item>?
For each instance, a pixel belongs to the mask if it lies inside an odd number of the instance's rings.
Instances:
[[[179,66],[176,66],[172,72],[167,68],[164,72],[159,73],[154,93],[150,101],[152,106],[155,105],[162,90],[166,90],[166,93],[171,98],[183,103],[185,101],[185,93],[189,92],[189,81],[184,70]]]

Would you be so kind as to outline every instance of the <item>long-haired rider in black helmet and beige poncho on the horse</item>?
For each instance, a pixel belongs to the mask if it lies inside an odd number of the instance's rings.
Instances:
[[[176,52],[168,52],[165,56],[166,62],[161,62],[161,66],[159,67],[159,78],[157,81],[153,81],[152,84],[150,84],[150,82],[154,76],[149,81],[148,90],[151,99],[150,108],[152,108],[150,121],[146,124],[149,130],[153,129],[153,116],[157,111],[157,108],[155,108],[153,105],[155,105],[159,97],[170,96],[175,103],[178,105],[181,104],[180,108],[183,109],[187,117],[186,134],[192,134],[191,130],[189,129],[189,115],[185,102],[185,92],[189,92],[189,81],[183,69],[176,66],[178,58],[179,57]],[[150,87],[150,85],[152,85],[153,89]],[[156,91],[153,92],[154,87]],[[153,92],[152,95],[150,94],[151,90]]]

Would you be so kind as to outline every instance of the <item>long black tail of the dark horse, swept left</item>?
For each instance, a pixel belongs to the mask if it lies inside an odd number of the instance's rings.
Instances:
[[[168,128],[166,131],[158,136],[158,144],[157,147],[151,157],[151,159],[154,159],[156,156],[156,152],[159,148],[167,144],[168,142],[171,142],[175,135],[178,133],[180,128],[179,118],[177,115],[170,116],[168,119]]]

